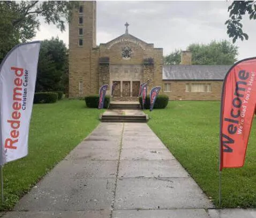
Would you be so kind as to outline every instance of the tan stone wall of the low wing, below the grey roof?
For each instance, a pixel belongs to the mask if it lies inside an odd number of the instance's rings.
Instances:
[[[221,100],[223,81],[163,81],[170,83],[170,91],[164,91],[170,100]],[[211,84],[210,92],[186,92],[186,84],[207,83]]]

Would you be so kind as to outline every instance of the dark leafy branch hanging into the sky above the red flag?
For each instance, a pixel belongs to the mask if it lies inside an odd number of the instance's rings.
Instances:
[[[243,25],[241,23],[244,15],[247,13],[250,20],[256,19],[256,1],[234,1],[228,7],[229,18],[225,25],[227,25],[227,34],[233,39],[233,43],[240,40],[248,40],[249,36],[243,32]]]

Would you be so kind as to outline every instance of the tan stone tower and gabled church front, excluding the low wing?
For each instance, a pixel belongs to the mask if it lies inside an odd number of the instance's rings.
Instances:
[[[125,34],[96,46],[96,2],[79,3],[69,26],[69,97],[98,94],[102,84],[109,84],[110,95],[118,82],[114,99],[137,99],[140,83],[147,82],[148,90],[162,86],[163,49],[129,34],[128,24]]]

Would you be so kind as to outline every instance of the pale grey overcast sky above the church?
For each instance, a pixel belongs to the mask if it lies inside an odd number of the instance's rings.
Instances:
[[[106,43],[125,32],[155,48],[163,48],[164,55],[175,49],[186,50],[191,43],[209,43],[228,38],[227,1],[97,1],[97,44]],[[243,30],[249,40],[238,41],[238,60],[256,56],[256,21],[246,17]],[[69,44],[68,28],[61,33],[54,25],[42,24],[34,40],[58,36]],[[231,42],[231,40],[230,40]]]

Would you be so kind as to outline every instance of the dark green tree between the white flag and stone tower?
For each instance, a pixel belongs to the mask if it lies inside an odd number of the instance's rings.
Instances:
[[[68,77],[67,48],[59,38],[41,43],[35,91],[66,90]]]

